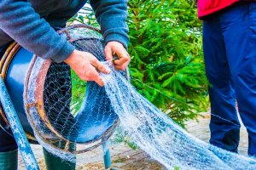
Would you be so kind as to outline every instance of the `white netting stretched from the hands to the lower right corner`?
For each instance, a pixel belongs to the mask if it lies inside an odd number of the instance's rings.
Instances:
[[[121,125],[131,139],[167,169],[255,169],[256,160],[191,136],[138,94],[117,71],[102,74],[105,89]]]

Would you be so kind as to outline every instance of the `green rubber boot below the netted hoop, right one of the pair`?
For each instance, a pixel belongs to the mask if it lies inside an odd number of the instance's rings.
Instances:
[[[44,160],[47,170],[74,170],[76,164],[71,161],[64,161],[58,156],[54,156],[49,151],[43,149]],[[0,170],[2,170],[0,168]]]

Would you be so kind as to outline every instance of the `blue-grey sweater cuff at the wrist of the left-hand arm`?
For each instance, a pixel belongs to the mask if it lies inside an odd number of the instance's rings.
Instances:
[[[70,44],[69,42],[65,42],[61,50],[58,53],[56,53],[55,56],[51,59],[56,63],[61,63],[65,59],[67,59],[70,54],[73,53],[74,49],[75,47],[72,44]]]

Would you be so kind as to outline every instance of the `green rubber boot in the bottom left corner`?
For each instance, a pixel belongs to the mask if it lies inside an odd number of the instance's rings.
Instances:
[[[16,170],[18,167],[18,150],[0,152],[0,170]]]

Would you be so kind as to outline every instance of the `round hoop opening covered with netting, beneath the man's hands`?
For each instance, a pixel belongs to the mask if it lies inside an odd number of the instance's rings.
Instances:
[[[105,61],[98,29],[76,25],[58,32],[75,48]],[[108,105],[110,101],[104,95],[104,88],[96,82],[87,82],[82,104],[74,113],[71,109],[72,85],[68,65],[33,56],[24,88],[26,115],[38,142],[46,149],[53,148],[64,154],[79,154],[96,148],[109,139],[119,124],[118,116]],[[83,146],[77,147],[77,144]]]

